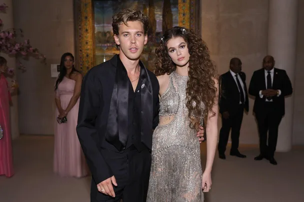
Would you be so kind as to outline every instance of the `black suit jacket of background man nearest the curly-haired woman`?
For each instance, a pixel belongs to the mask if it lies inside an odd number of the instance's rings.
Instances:
[[[244,84],[244,91],[245,91],[245,103],[244,109],[248,111],[248,93],[247,93],[247,86],[246,86],[246,75],[244,72],[239,73],[239,77],[241,78]],[[239,106],[239,91],[237,84],[233,76],[231,75],[230,71],[220,75],[220,100],[219,100],[219,112],[229,112],[229,114],[233,114],[235,108]],[[241,89],[240,89],[241,90]]]

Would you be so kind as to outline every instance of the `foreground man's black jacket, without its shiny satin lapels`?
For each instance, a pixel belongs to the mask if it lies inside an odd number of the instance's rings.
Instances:
[[[115,55],[112,59],[91,68],[84,76],[81,86],[76,131],[96,184],[113,176],[111,168],[102,156],[101,148],[119,152],[105,140],[104,136],[115,82],[117,57],[118,55]],[[155,128],[158,124],[159,84],[152,72],[148,71],[148,74],[153,91],[153,128]],[[151,148],[151,145],[148,147]]]

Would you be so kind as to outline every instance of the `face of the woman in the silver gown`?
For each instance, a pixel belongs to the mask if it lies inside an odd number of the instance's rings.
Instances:
[[[188,64],[190,54],[187,43],[181,36],[169,39],[167,42],[167,50],[171,60],[176,66],[183,67]]]

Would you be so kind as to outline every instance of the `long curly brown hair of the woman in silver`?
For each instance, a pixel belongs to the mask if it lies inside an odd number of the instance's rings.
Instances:
[[[218,74],[215,65],[210,60],[209,50],[206,43],[194,32],[187,28],[175,26],[164,32],[160,45],[155,50],[155,70],[156,76],[171,74],[176,69],[168,55],[167,42],[174,37],[182,37],[188,47],[190,54],[188,76],[186,87],[186,107],[188,116],[191,120],[190,127],[197,129],[201,119],[205,120],[207,114],[218,99],[215,80],[218,80]],[[193,105],[193,103],[195,103]],[[200,106],[204,105],[204,108]]]

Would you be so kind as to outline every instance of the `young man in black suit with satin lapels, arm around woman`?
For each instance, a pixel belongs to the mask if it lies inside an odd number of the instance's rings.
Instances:
[[[91,202],[146,201],[159,109],[157,78],[139,60],[148,24],[138,9],[115,14],[119,55],[83,78],[76,131],[92,174]]]

